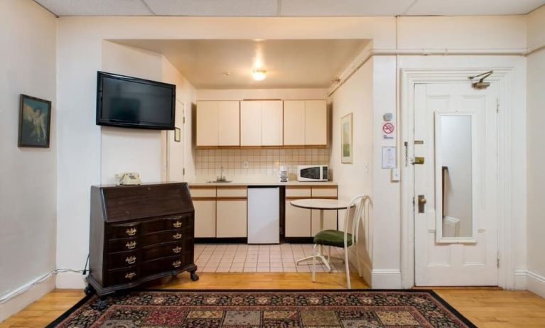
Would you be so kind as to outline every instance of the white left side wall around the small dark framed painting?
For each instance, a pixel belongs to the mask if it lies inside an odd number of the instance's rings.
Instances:
[[[0,297],[55,269],[55,16],[0,0]],[[19,94],[52,102],[50,148],[18,148]],[[53,288],[0,303],[0,321]]]

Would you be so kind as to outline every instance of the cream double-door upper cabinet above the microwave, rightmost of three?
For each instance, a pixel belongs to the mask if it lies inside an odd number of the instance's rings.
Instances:
[[[327,146],[325,100],[284,101],[284,146]]]

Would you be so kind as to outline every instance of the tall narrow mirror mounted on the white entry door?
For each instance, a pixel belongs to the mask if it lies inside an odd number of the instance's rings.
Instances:
[[[441,239],[473,238],[472,116],[438,116],[436,179]]]

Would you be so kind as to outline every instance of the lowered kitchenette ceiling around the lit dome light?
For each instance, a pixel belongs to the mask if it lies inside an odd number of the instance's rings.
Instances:
[[[114,40],[166,58],[198,89],[328,88],[368,40]],[[263,81],[252,70],[266,70]],[[229,72],[229,75],[226,73]]]

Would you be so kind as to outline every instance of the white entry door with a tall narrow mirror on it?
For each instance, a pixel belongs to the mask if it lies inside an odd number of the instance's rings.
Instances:
[[[416,84],[415,285],[497,285],[497,87]]]

